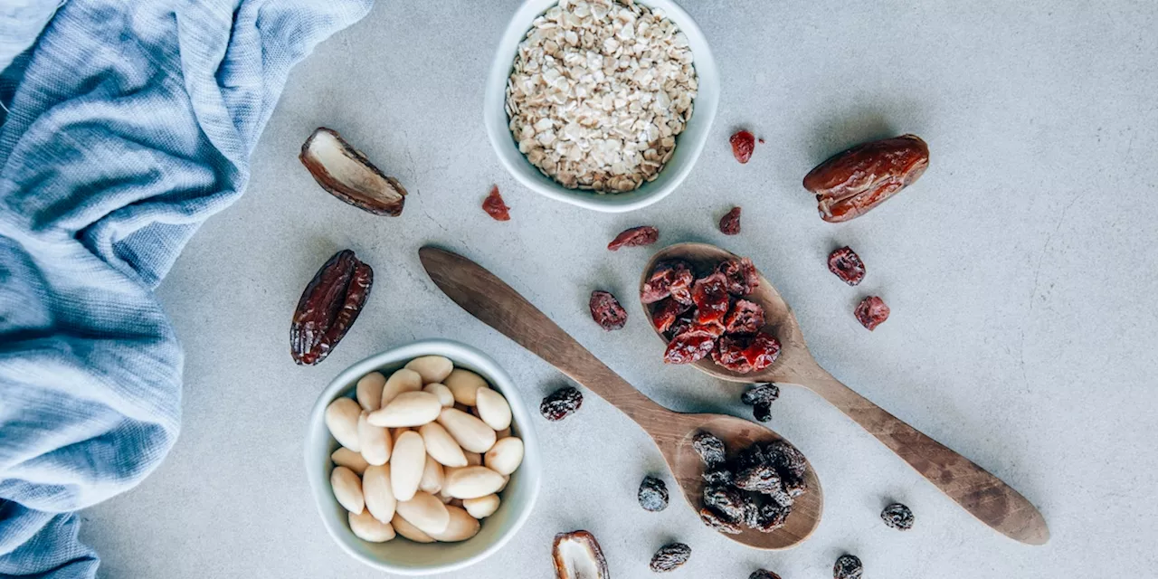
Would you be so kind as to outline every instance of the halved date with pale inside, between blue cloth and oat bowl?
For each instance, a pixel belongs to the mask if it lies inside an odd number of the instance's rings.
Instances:
[[[320,126],[298,155],[314,181],[334,197],[375,215],[401,215],[406,189],[387,177],[337,131]]]

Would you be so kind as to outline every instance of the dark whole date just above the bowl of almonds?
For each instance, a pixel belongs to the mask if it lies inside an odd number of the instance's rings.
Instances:
[[[290,324],[290,356],[301,365],[325,359],[358,320],[374,270],[345,249],[330,257],[309,280]]]

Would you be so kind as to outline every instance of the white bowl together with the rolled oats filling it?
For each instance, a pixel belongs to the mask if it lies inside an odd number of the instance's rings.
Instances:
[[[496,52],[484,115],[522,184],[625,212],[687,177],[718,102],[708,41],[670,0],[527,0]]]

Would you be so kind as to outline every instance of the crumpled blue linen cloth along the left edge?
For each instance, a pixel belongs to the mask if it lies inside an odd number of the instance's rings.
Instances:
[[[153,290],[243,191],[290,68],[372,1],[0,2],[0,577],[95,574],[73,511],[181,423]]]

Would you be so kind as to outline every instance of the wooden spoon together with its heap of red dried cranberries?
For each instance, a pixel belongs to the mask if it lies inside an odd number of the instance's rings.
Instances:
[[[741,261],[743,266],[750,267],[747,280],[741,271],[743,269],[740,266]],[[731,272],[740,271],[740,274],[733,276],[726,272],[723,264],[735,265]],[[692,278],[690,288],[684,287],[688,285],[689,276],[684,271],[690,271]],[[762,323],[740,331],[738,338],[730,343],[725,343],[728,340],[727,334],[723,337],[716,334],[719,338],[717,347],[712,350],[709,346],[706,347],[709,352],[704,353],[694,347],[697,344],[696,337],[704,332],[710,335],[714,321],[701,320],[710,316],[698,314],[689,316],[687,313],[677,314],[673,318],[672,301],[695,298],[698,301],[687,307],[689,312],[699,313],[710,309],[713,295],[720,293],[712,292],[710,278],[713,277],[723,283],[738,280],[739,285],[746,286],[740,290],[742,295],[731,292],[732,296],[725,294],[723,300],[725,303],[732,301],[732,310],[739,309],[736,305],[745,301],[758,305],[758,309],[762,310],[761,316],[742,312],[743,316],[735,317],[746,321],[757,318]],[[647,318],[653,321],[652,329],[668,344],[666,361],[691,364],[706,374],[732,382],[802,386],[819,394],[877,437],[941,492],[985,525],[1023,543],[1045,544],[1049,541],[1049,528],[1045,518],[1013,488],[886,412],[821,368],[808,351],[792,308],[749,261],[706,243],[677,243],[661,249],[652,257],[644,267],[639,288],[644,312]],[[684,295],[683,292],[688,294]],[[709,308],[697,308],[699,302],[709,303]],[[749,307],[749,309],[756,308]],[[721,317],[728,328],[732,323],[731,317],[731,312]],[[721,328],[723,325],[717,327]],[[688,339],[676,340],[677,332]],[[770,345],[754,354],[752,350],[756,339],[748,336],[765,336],[765,342]],[[735,347],[736,340],[742,347]]]

